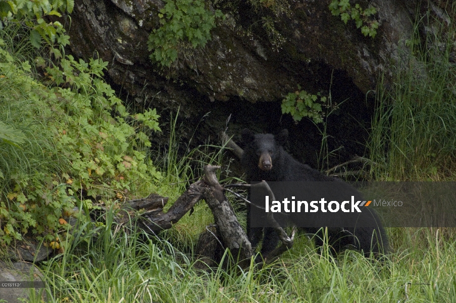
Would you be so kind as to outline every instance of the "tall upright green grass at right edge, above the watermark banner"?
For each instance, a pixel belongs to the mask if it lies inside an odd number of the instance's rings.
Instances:
[[[428,24],[430,22],[432,24]],[[454,179],[456,66],[450,61],[456,26],[420,20],[408,42],[413,56],[380,81],[369,149],[377,180]],[[432,27],[420,42],[420,25]]]

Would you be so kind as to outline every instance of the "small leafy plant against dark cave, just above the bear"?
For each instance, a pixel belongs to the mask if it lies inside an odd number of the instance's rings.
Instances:
[[[298,86],[298,89],[300,87]],[[282,114],[290,114],[293,120],[298,122],[303,117],[311,118],[315,123],[323,122],[322,104],[326,97],[317,94],[309,94],[305,90],[290,92],[282,100]]]

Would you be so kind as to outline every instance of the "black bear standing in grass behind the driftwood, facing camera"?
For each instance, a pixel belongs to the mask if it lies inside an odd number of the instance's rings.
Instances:
[[[246,172],[247,182],[255,181],[329,181],[340,182],[347,192],[359,191],[337,178],[328,177],[321,172],[293,159],[284,149],[283,145],[288,138],[288,131],[282,130],[279,134],[255,134],[249,129],[242,131],[244,143],[241,165]],[[249,194],[250,197],[250,194]],[[263,236],[262,255],[267,257],[278,244],[279,237],[272,228],[251,227],[251,207],[247,206],[247,232],[253,247],[256,247]],[[361,220],[375,221],[375,227],[328,227],[328,242],[335,251],[351,246],[364,252],[369,257],[372,252],[375,256],[388,252],[388,240],[384,228],[379,223],[375,212],[365,213]],[[274,215],[276,218],[276,215]],[[307,217],[309,218],[309,217]],[[276,219],[277,220],[277,219]],[[286,219],[297,226],[305,224],[306,216],[294,215]],[[283,216],[279,224],[284,225]],[[316,245],[323,245],[322,228],[305,228],[308,233],[316,234]]]

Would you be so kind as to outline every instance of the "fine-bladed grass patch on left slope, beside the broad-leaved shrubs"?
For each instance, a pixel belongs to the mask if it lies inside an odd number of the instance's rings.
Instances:
[[[14,127],[23,136],[23,142],[0,144],[0,192],[5,192],[7,180],[18,174],[34,175],[41,172],[58,173],[65,171],[69,163],[57,155],[54,133],[47,127],[52,114],[45,106],[46,101],[36,96],[38,89],[24,88],[23,79],[8,78],[0,85],[0,121]],[[33,95],[34,97],[30,97]],[[4,182],[2,182],[4,181]]]

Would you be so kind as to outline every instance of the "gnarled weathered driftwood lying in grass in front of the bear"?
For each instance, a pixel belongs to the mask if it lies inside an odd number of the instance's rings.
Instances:
[[[235,216],[227,197],[224,194],[224,188],[219,184],[215,171],[219,166],[207,165],[205,174],[201,180],[191,184],[188,189],[175,201],[168,212],[163,213],[163,207],[168,198],[151,194],[146,198],[130,200],[125,203],[126,209],[121,210],[118,216],[122,217],[118,221],[125,221],[125,217],[140,218],[141,227],[149,232],[157,233],[161,230],[169,229],[174,223],[179,221],[200,199],[204,199],[208,204],[214,216],[215,226],[208,230],[198,241],[197,251],[202,257],[208,257],[204,260],[209,265],[209,259],[221,258],[221,252],[228,248],[231,255],[237,258],[239,265],[245,267],[250,263],[254,255],[254,249],[250,241]],[[266,182],[255,186],[263,186],[273,196],[271,189]],[[135,215],[136,211],[138,215]],[[141,211],[144,211],[142,212]],[[138,212],[139,211],[139,212]],[[128,214],[127,214],[128,213]],[[283,245],[271,252],[270,255],[264,256],[268,261],[279,256],[288,247],[291,247],[293,240],[289,238],[280,225],[273,219],[272,213],[268,219],[276,227]],[[214,250],[214,251],[211,251]],[[220,260],[214,260],[219,262]]]

